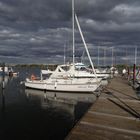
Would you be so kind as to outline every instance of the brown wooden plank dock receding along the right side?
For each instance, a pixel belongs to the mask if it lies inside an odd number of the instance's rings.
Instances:
[[[128,82],[112,79],[66,140],[140,140],[140,100]]]

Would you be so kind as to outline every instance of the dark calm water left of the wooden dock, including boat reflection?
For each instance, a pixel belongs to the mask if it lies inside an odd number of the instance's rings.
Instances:
[[[39,76],[39,69],[18,71],[18,77],[5,77],[4,90],[0,87],[0,140],[63,140],[96,99],[25,89],[21,81],[31,73]]]

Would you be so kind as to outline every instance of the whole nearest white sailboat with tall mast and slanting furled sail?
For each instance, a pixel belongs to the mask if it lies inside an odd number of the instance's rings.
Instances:
[[[101,84],[101,79],[97,78],[93,63],[90,58],[87,45],[85,43],[77,16],[75,16],[80,35],[82,37],[90,64],[92,66],[92,71],[94,72],[94,77],[76,77],[75,71],[75,44],[74,44],[74,0],[72,0],[72,21],[73,21],[73,63],[70,66],[70,69],[66,71],[63,69],[63,65],[57,66],[55,71],[41,71],[41,79],[29,79],[25,81],[25,87],[35,88],[47,91],[64,91],[64,92],[94,92],[96,91]],[[50,75],[49,78],[43,79],[42,74]],[[88,73],[89,74],[89,73]]]

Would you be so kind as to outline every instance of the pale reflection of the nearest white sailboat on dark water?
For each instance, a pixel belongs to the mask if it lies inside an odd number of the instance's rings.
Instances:
[[[29,101],[40,100],[42,108],[57,108],[58,110],[66,111],[77,120],[77,105],[92,104],[96,100],[94,94],[80,94],[80,93],[65,93],[65,92],[44,92],[35,89],[25,89],[27,99]],[[78,115],[79,116],[79,115]]]

